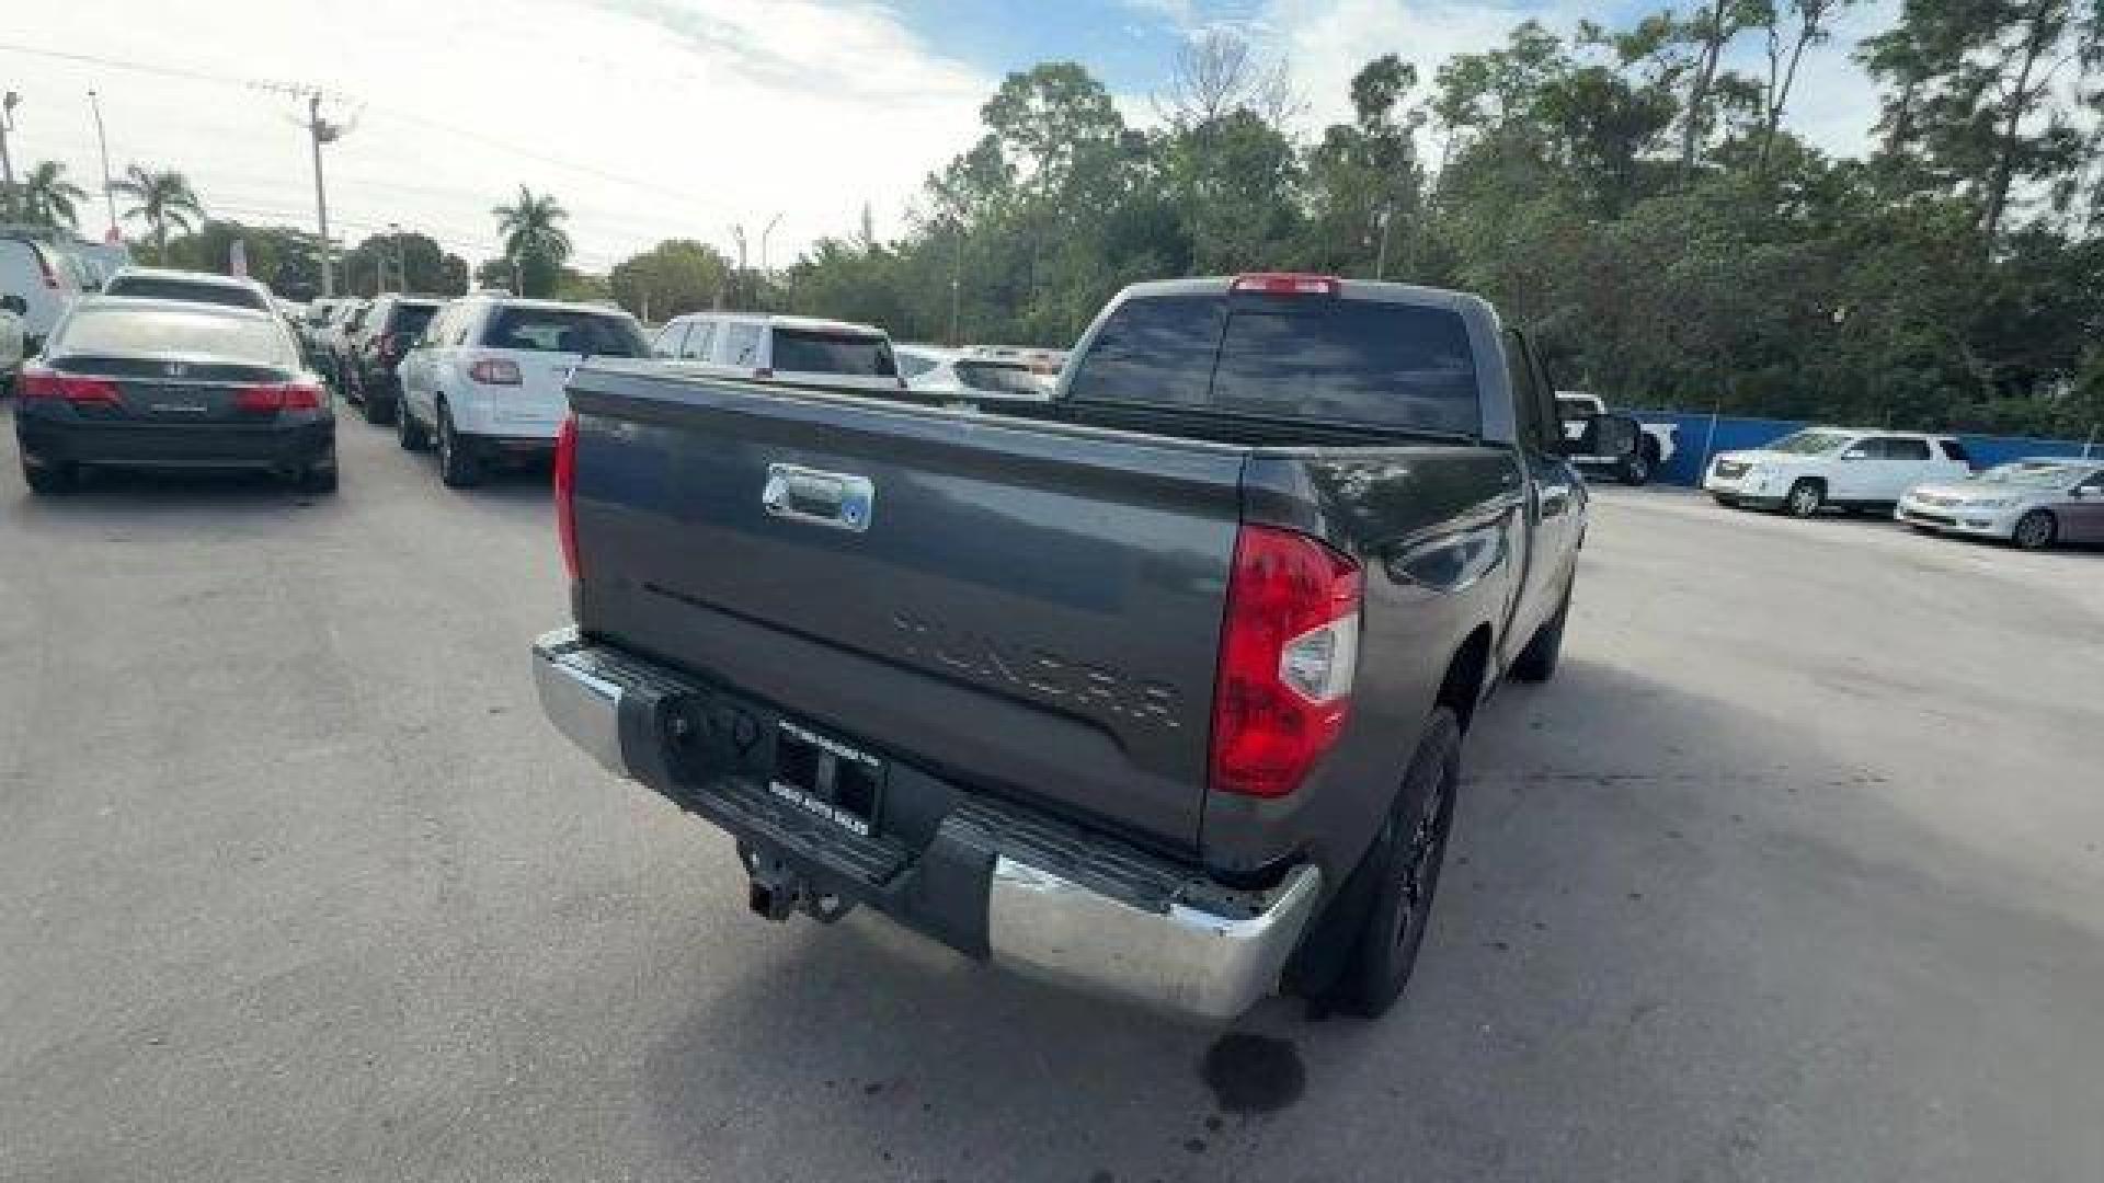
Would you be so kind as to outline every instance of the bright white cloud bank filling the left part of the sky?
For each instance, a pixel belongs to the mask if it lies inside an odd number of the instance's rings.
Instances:
[[[993,86],[888,11],[850,2],[29,6],[34,19],[15,27],[34,32],[13,36],[38,48],[320,82],[356,99],[356,131],[326,156],[343,238],[400,221],[478,259],[494,250],[488,208],[526,183],[570,208],[579,263],[591,269],[671,236],[728,250],[732,223],[747,225],[757,255],[776,213],[776,265],[812,238],[852,232],[863,202],[879,232],[894,227],[919,179],[970,143]],[[215,213],[311,225],[295,99],[6,51],[0,67],[23,93],[17,162],[65,160],[97,189],[84,101],[97,86],[118,171],[133,160],[183,168]],[[99,202],[84,221],[99,229]]]

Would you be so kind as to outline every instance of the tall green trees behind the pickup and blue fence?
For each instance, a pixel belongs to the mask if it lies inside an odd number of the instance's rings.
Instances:
[[[2104,17],[1908,0],[1858,51],[1885,101],[1856,160],[1793,131],[1847,2],[1528,21],[1431,78],[1378,57],[1313,137],[1288,131],[1279,63],[1227,32],[1185,51],[1145,128],[1044,63],[987,99],[903,238],[821,240],[778,297],[901,339],[1067,345],[1134,280],[1382,276],[1490,297],[1561,385],[1628,406],[2091,429]]]

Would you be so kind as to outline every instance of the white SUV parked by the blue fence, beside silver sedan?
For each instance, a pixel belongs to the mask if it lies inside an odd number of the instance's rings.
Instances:
[[[1807,427],[1744,453],[1719,453],[1702,488],[1721,505],[1782,509],[1809,518],[1839,509],[1891,512],[1908,488],[1959,480],[1971,457],[1955,436]]]

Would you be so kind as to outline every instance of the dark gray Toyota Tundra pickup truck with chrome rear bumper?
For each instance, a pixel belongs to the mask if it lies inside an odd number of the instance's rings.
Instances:
[[[616,360],[570,404],[558,728],[736,836],[770,920],[1199,1021],[1395,1002],[1586,520],[1528,343],[1403,284],[1138,284],[987,413]]]

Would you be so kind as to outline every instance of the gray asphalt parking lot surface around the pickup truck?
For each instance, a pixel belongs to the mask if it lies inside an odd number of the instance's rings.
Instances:
[[[1403,1004],[1216,1046],[751,918],[541,720],[545,476],[341,434],[311,501],[4,455],[0,1179],[2104,1172],[2100,554],[1603,490]]]

